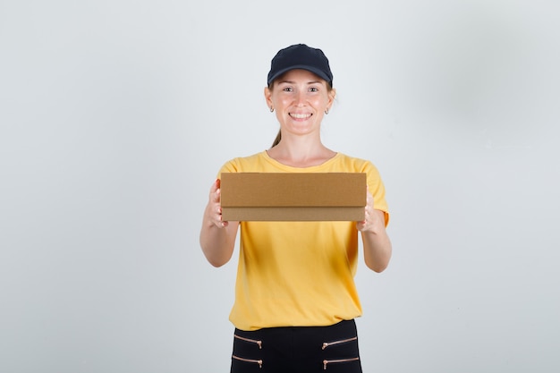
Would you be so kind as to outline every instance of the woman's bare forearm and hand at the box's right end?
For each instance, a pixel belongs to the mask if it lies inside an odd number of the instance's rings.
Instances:
[[[385,229],[385,213],[373,207],[368,191],[366,219],[356,223],[361,232],[366,265],[375,272],[383,272],[389,264],[393,248]]]

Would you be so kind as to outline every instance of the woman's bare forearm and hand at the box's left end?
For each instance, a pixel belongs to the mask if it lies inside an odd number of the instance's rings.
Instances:
[[[200,247],[214,267],[221,267],[232,259],[239,222],[223,222],[220,207],[220,181],[210,188],[208,205],[200,228]]]

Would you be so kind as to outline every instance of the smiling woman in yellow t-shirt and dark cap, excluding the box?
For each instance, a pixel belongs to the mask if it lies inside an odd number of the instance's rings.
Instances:
[[[361,222],[225,222],[218,176],[210,188],[200,246],[220,267],[232,258],[240,230],[230,314],[235,326],[231,372],[361,372],[354,323],[361,303],[353,277],[359,235],[369,268],[381,272],[391,258],[383,182],[369,161],[321,142],[321,120],[333,105],[335,89],[320,49],[299,44],[280,50],[271,63],[265,98],[280,123],[273,147],[230,160],[220,174],[366,173],[367,206]]]

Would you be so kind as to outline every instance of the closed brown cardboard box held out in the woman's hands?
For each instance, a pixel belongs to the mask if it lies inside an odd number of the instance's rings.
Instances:
[[[224,173],[224,221],[361,221],[366,174]]]

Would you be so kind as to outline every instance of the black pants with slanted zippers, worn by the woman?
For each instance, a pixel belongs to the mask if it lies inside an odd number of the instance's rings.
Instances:
[[[235,329],[231,373],[361,373],[354,320],[333,326]]]

